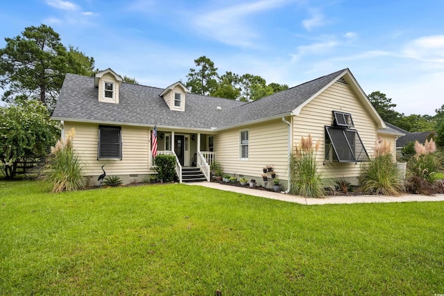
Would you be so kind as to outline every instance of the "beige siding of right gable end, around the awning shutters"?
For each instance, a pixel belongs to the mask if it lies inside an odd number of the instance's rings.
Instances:
[[[333,110],[352,114],[355,129],[358,131],[368,155],[371,155],[377,141],[376,123],[352,89],[340,82],[334,82],[303,107],[298,116],[294,116],[293,143],[298,145],[301,137],[308,137],[311,134],[315,143],[318,140],[321,141],[321,150],[318,151],[317,159],[321,164],[323,177],[357,177],[360,171],[359,163],[331,162],[322,166],[325,154],[324,126],[332,124]]]

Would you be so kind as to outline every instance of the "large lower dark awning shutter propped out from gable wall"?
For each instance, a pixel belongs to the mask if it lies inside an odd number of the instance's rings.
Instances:
[[[357,130],[325,126],[325,159],[336,162],[368,162]]]

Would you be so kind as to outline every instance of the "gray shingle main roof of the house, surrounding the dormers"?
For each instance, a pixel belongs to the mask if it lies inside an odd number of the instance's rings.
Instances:
[[[185,112],[169,110],[159,95],[164,89],[123,82],[119,104],[101,103],[94,78],[67,74],[53,112],[53,119],[157,125],[176,128],[224,128],[289,114],[341,71],[302,83],[283,92],[244,103],[225,98],[187,94]],[[221,107],[222,110],[217,110]]]

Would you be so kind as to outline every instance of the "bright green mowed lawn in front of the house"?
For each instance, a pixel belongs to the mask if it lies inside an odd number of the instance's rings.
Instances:
[[[352,197],[351,197],[352,198]],[[444,203],[0,182],[0,295],[444,293]]]

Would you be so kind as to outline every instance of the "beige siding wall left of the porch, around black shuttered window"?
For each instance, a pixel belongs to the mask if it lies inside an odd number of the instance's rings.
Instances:
[[[65,121],[65,137],[74,126],[74,148],[87,164],[86,175],[100,175],[101,166],[106,164],[107,175],[147,174],[149,170],[149,130],[142,127],[121,126],[122,160],[97,160],[99,125]]]

